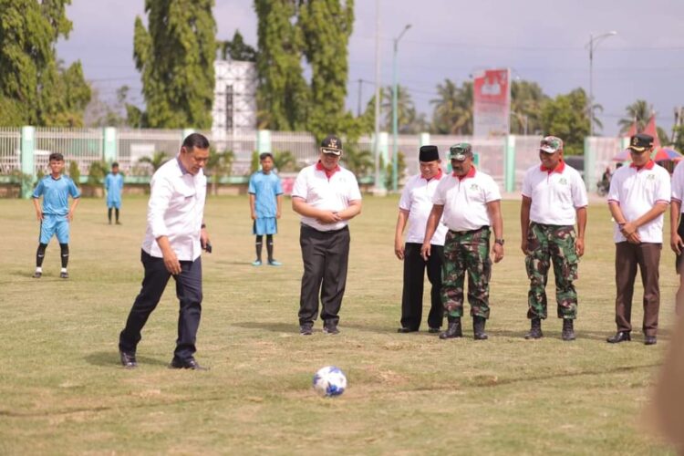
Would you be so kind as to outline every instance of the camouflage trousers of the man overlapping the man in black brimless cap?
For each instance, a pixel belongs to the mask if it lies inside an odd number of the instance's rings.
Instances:
[[[468,302],[471,316],[489,318],[490,228],[455,232],[449,230],[444,241],[441,277],[441,304],[448,316],[463,316],[463,285],[468,273]]]

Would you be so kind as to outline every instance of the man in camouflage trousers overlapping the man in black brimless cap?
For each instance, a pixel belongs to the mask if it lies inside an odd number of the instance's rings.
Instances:
[[[463,291],[468,274],[468,302],[471,304],[473,337],[484,340],[484,326],[490,316],[489,281],[492,275],[490,235],[494,232],[494,262],[503,259],[503,221],[501,193],[491,176],[475,170],[472,147],[466,142],[451,146],[451,168],[432,197],[420,254],[430,256],[430,239],[440,219],[447,225],[444,241],[441,302],[449,326],[441,339],[462,337]],[[443,215],[443,217],[442,217]]]

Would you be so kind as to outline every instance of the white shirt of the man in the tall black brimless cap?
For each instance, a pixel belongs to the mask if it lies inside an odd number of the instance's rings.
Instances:
[[[406,242],[423,244],[425,228],[428,225],[428,217],[432,211],[432,196],[437,189],[444,174],[440,173],[427,181],[420,174],[412,176],[406,181],[404,190],[401,192],[399,209],[409,212],[409,228],[406,231]],[[432,245],[444,245],[444,237],[447,235],[447,225],[440,223],[430,239]]]

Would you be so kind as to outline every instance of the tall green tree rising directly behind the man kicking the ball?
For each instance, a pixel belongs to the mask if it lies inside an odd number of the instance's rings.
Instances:
[[[145,0],[149,30],[135,19],[133,55],[142,74],[147,126],[212,127],[216,23],[213,0]]]

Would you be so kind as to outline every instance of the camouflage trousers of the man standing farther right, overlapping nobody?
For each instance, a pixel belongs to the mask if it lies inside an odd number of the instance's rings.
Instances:
[[[528,318],[546,318],[545,289],[551,262],[554,264],[558,318],[574,319],[577,316],[577,292],[573,281],[577,279],[579,262],[575,253],[575,228],[530,223],[525,255],[525,268],[530,279]]]

